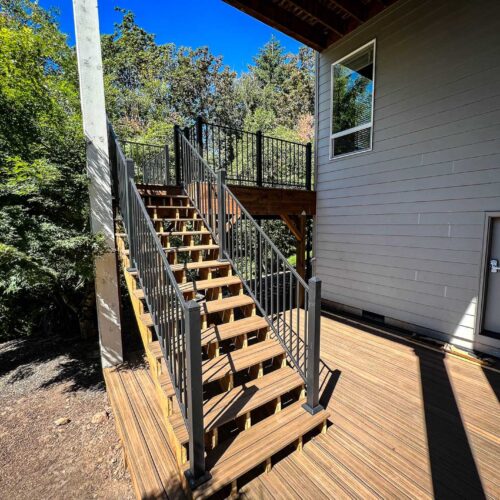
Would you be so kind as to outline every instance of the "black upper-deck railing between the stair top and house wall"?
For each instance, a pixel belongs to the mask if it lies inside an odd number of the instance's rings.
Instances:
[[[214,170],[240,186],[312,189],[312,146],[198,118],[185,135]]]

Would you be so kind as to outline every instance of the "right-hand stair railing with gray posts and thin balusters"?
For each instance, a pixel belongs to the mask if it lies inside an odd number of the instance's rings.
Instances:
[[[305,408],[319,404],[321,281],[306,283],[226,184],[202,158],[185,132],[177,131],[184,189],[219,244],[219,258],[228,259],[260,314],[302,376]]]

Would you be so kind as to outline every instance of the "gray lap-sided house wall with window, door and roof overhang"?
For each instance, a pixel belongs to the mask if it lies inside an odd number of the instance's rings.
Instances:
[[[500,4],[227,1],[318,50],[325,305],[498,355]]]

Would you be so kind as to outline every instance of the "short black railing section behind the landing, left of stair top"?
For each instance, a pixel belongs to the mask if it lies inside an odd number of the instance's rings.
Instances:
[[[171,186],[177,183],[168,145],[122,141],[125,155],[135,163],[135,178],[144,184]]]

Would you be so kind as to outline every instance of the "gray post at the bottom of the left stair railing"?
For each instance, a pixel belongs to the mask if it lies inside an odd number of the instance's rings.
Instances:
[[[205,429],[203,426],[203,382],[201,374],[200,305],[186,305],[187,422],[189,431],[189,470],[186,478],[191,489],[209,479],[205,470]]]

